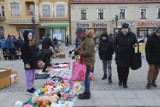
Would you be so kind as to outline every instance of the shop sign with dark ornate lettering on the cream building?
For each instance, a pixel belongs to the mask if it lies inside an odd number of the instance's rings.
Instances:
[[[84,28],[107,28],[106,23],[77,23],[77,27]]]

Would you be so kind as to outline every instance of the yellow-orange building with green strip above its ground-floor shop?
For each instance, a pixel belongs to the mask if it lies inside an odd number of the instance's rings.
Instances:
[[[46,34],[65,42],[69,35],[68,0],[0,0],[0,36],[23,37],[26,29],[35,33],[37,42]]]

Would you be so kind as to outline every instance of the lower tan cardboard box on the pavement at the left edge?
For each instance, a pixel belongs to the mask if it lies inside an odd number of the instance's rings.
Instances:
[[[10,76],[0,78],[0,89],[8,87],[10,85],[11,85]]]

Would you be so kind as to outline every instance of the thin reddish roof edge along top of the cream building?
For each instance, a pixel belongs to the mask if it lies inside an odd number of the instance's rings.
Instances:
[[[160,0],[70,0],[72,4],[106,3],[106,4],[131,4],[131,3],[160,3]]]

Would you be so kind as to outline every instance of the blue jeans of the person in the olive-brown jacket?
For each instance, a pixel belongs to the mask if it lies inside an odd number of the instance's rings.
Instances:
[[[91,69],[87,67],[86,77],[85,77],[85,90],[84,90],[84,92],[90,92],[90,80],[89,80],[90,72],[91,72]]]

